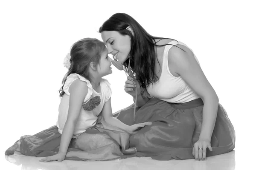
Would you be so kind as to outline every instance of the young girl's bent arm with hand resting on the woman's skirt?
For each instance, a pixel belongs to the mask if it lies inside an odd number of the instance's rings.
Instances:
[[[126,125],[123,122],[121,122],[120,120],[116,119],[115,117],[113,117],[113,113],[112,113],[112,108],[111,108],[111,98],[104,104],[103,108],[102,108],[102,116],[103,119],[110,125],[116,126],[119,129],[133,134],[134,130],[136,130],[139,127],[144,127],[146,125],[151,125],[151,122],[145,122],[145,123],[139,123],[139,124],[135,124],[132,126]]]

